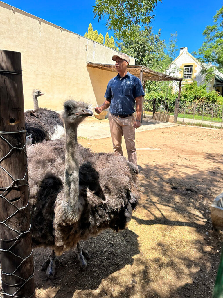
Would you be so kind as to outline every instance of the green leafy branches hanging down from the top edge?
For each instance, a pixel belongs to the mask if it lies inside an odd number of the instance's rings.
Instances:
[[[154,16],[152,13],[161,0],[96,0],[94,17],[98,21],[106,19],[106,27],[115,32],[115,37],[134,36],[138,26],[149,24]],[[131,31],[130,31],[131,30]]]

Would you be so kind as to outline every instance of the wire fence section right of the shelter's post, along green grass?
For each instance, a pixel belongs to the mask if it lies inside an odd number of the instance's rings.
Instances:
[[[179,102],[178,122],[199,126],[222,128],[223,105],[199,103],[199,102]]]

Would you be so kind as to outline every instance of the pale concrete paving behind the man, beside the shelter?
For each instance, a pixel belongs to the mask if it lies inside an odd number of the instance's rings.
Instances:
[[[143,118],[143,122],[141,126],[136,129],[136,133],[141,131],[147,131],[156,128],[166,128],[172,127],[178,124],[174,124],[172,122],[161,122],[157,120],[153,120],[151,118]],[[109,128],[109,120],[98,120],[95,117],[87,118],[78,126],[78,137],[86,138],[86,139],[102,139],[108,138],[111,136],[110,128]]]

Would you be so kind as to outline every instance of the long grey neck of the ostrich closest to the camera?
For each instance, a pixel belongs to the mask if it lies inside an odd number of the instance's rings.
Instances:
[[[79,159],[76,124],[67,124],[66,127],[66,154],[64,176],[64,203],[67,208],[74,209],[79,195]]]

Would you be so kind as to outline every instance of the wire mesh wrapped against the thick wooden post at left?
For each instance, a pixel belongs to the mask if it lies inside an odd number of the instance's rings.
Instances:
[[[12,272],[4,272],[2,268],[0,268],[0,275],[1,275],[1,282],[2,282],[2,287],[0,286],[0,298],[1,297],[19,297],[19,298],[31,298],[34,297],[35,292],[32,293],[29,296],[21,296],[20,292],[23,291],[24,286],[30,281],[33,280],[34,278],[34,268],[32,270],[32,273],[30,276],[28,277],[24,277],[24,276],[20,276],[20,268],[25,264],[26,260],[28,260],[30,257],[32,257],[33,255],[33,237],[32,237],[32,233],[31,233],[31,211],[29,209],[29,202],[27,202],[26,206],[24,207],[17,207],[12,201],[9,201],[7,198],[7,195],[13,190],[13,189],[17,189],[20,186],[28,186],[28,181],[27,181],[27,166],[26,166],[26,171],[24,176],[22,176],[21,179],[15,179],[13,177],[13,175],[11,173],[8,172],[7,169],[5,169],[4,167],[1,166],[1,162],[4,161],[8,156],[11,156],[13,152],[17,151],[22,151],[23,154],[26,157],[27,160],[27,154],[26,154],[26,150],[25,150],[25,146],[26,143],[21,144],[21,147],[15,147],[12,144],[10,144],[10,142],[7,141],[7,139],[4,137],[4,135],[10,135],[10,134],[25,134],[26,131],[16,131],[16,132],[8,132],[8,131],[0,131],[0,138],[6,142],[9,146],[9,152],[6,154],[6,156],[1,156],[0,158],[0,169],[1,171],[5,174],[8,175],[11,178],[11,184],[7,185],[6,187],[0,188],[0,199],[5,201],[5,204],[7,205],[10,204],[14,207],[14,212],[12,212],[12,214],[5,214],[5,219],[3,221],[0,221],[0,225],[7,228],[10,231],[13,231],[15,233],[15,237],[12,239],[8,239],[7,236],[5,236],[6,238],[2,239],[0,238],[0,253],[3,252],[7,252],[8,256],[11,257],[12,259],[16,260],[15,264],[18,263],[18,266],[16,265],[15,269]],[[26,139],[26,138],[24,138]],[[28,164],[28,162],[27,162]],[[22,174],[21,174],[22,175]],[[21,215],[27,215],[29,214],[30,217],[30,224],[28,225],[27,230],[25,231],[21,231],[21,227],[18,226],[17,228],[15,226],[12,226],[10,219],[12,219],[14,216],[16,216],[18,213],[20,212]],[[27,219],[28,222],[28,219]],[[7,234],[6,234],[7,235]],[[21,243],[21,241],[26,241],[26,236],[27,235],[31,235],[31,241],[32,241],[32,246],[30,248],[30,252],[28,253],[28,255],[21,256],[17,253],[15,253],[16,249],[15,247],[18,245],[18,243]],[[1,236],[2,237],[2,236]],[[3,249],[2,247],[4,246],[4,243],[10,243],[8,245],[7,249]],[[12,244],[11,244],[12,243]],[[28,245],[28,244],[27,244]],[[19,260],[19,261],[18,261]],[[10,271],[10,268],[7,268],[8,271]],[[16,284],[7,284],[4,280],[5,278],[3,278],[4,276],[8,276],[10,277],[9,280],[11,283],[13,283],[13,281],[17,280],[18,283]],[[1,285],[1,284],[0,284]],[[9,288],[12,289],[16,289],[14,293],[6,293],[4,291],[4,286],[7,285]]]

